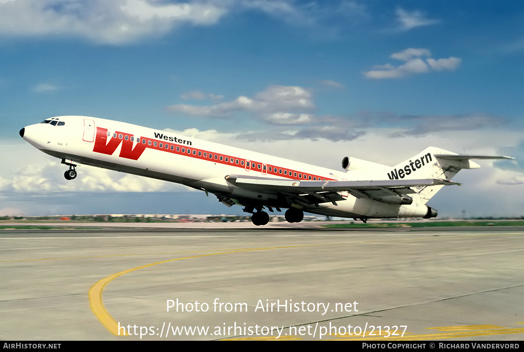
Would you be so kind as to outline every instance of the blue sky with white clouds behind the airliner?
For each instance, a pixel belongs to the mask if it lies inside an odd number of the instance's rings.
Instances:
[[[96,194],[113,213],[242,213],[95,168],[73,184],[18,137],[87,115],[330,168],[429,145],[520,157],[462,171],[431,205],[524,215],[522,23],[518,1],[0,0],[0,213],[96,213]],[[127,201],[166,192],[185,210]]]

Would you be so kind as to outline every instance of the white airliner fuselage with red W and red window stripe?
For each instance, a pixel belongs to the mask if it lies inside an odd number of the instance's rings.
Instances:
[[[359,180],[388,167],[372,166],[364,173],[337,171],[254,151],[229,147],[177,133],[95,117],[60,116],[56,123],[25,127],[20,135],[31,145],[65,163],[87,164],[144,177],[176,182],[226,196],[237,204],[253,202],[269,207],[289,207],[278,192],[248,190],[228,182],[227,175],[248,175],[285,180]],[[49,120],[47,120],[49,121]],[[384,174],[384,175],[383,175]],[[344,194],[345,193],[345,194]],[[342,217],[422,217],[428,207],[421,202],[394,205],[342,192],[344,200],[304,207],[303,211]]]

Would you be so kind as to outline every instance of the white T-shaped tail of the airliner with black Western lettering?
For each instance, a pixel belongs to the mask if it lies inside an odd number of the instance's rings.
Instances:
[[[500,156],[458,155],[441,148],[428,147],[418,155],[402,161],[387,172],[389,180],[440,179],[450,181],[462,169],[481,167],[471,159],[512,159]],[[428,202],[443,185],[412,188],[421,203]]]

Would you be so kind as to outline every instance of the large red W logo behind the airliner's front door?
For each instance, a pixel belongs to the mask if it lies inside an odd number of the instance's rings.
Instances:
[[[116,131],[116,137],[112,137],[109,141],[107,140],[107,128],[96,127],[96,138],[93,151],[97,153],[113,155],[116,148],[122,144],[120,149],[120,154],[118,155],[121,158],[127,158],[132,160],[138,160],[144,150],[146,150],[146,145],[138,143],[135,148],[133,148],[133,141],[128,133],[123,133]],[[122,135],[122,138],[118,138],[119,135]],[[127,139],[125,138],[127,136]]]

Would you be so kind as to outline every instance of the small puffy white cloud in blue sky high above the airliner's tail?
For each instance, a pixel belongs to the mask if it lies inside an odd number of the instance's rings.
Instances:
[[[364,72],[364,75],[370,79],[381,80],[403,78],[431,71],[453,71],[459,67],[462,61],[462,59],[455,57],[435,60],[431,58],[431,52],[428,49],[414,48],[391,54],[390,58],[404,61],[405,63],[398,66],[389,63],[376,66],[374,70]]]

